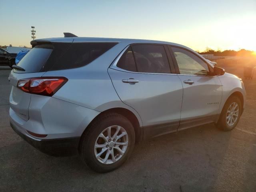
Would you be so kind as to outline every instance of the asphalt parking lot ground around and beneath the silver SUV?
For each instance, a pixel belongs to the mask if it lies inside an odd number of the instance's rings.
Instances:
[[[0,191],[256,191],[256,74],[244,80],[246,109],[232,132],[208,124],[159,136],[136,145],[118,170],[98,174],[79,156],[48,156],[12,130],[9,73],[0,67]]]

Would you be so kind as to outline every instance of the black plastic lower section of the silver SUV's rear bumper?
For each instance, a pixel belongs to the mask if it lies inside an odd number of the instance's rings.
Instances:
[[[51,156],[72,156],[78,152],[80,137],[39,140],[27,136],[12,122],[10,122],[10,126],[20,137],[43,153]]]

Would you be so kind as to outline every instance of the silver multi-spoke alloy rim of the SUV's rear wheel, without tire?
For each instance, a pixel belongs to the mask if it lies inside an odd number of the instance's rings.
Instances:
[[[94,155],[103,164],[112,164],[122,158],[128,147],[128,134],[121,126],[109,126],[98,136]]]

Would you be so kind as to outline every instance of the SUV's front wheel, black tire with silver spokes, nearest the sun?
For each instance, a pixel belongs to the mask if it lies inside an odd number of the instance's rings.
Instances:
[[[237,106],[238,107],[238,112],[236,114],[234,113],[233,119],[228,118],[228,114],[230,114],[230,113],[228,113],[228,111],[230,111],[231,104],[233,106],[235,106],[235,104],[238,105]],[[231,110],[232,110],[232,108],[231,108]],[[234,112],[236,110],[237,110],[237,108],[234,110]],[[240,119],[241,114],[242,114],[242,103],[241,103],[240,99],[236,96],[231,96],[230,98],[228,98],[228,100],[226,101],[226,103],[225,103],[225,105],[222,109],[222,112],[220,114],[220,118],[219,118],[218,123],[217,123],[217,127],[220,130],[223,130],[223,131],[233,130],[236,127],[236,125],[238,124],[238,121]],[[236,118],[235,115],[237,115],[237,118]],[[232,115],[230,114],[229,116],[232,116]],[[230,119],[230,121],[229,121],[229,119]],[[234,122],[234,124],[232,124],[232,122]]]

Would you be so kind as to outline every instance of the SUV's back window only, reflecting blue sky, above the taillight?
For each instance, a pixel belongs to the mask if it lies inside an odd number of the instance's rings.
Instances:
[[[18,66],[24,68],[26,71],[14,70],[14,72],[33,73],[40,72],[50,54],[52,53],[53,45],[37,45],[30,50],[20,62]]]

